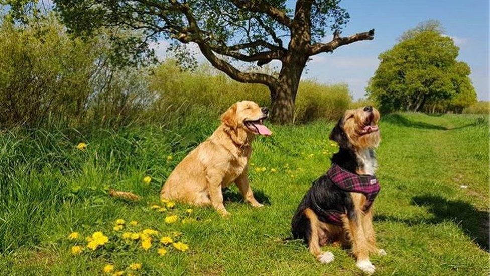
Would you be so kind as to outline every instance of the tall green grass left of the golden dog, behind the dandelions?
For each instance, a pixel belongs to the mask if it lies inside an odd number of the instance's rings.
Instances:
[[[94,129],[87,135],[54,128],[0,133],[0,253],[36,246],[48,238],[46,229],[60,224],[64,230],[57,233],[96,224],[90,217],[75,221],[71,214],[109,204],[109,187],[157,195],[164,179],[147,187],[142,177],[167,177],[175,165],[167,156],[181,160],[204,140],[219,123],[210,118],[195,109],[159,126]],[[87,149],[76,149],[79,142]]]

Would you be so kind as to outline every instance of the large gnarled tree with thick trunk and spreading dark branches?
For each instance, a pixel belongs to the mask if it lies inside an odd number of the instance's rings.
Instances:
[[[278,0],[54,2],[64,23],[77,34],[93,34],[101,27],[137,30],[139,37],[125,36],[124,40],[112,37],[116,45],[125,46],[121,47],[121,55],[122,50],[132,49],[138,58],[146,53],[148,41],[159,38],[196,43],[214,67],[234,80],[267,85],[272,118],[278,123],[293,120],[298,84],[311,56],[374,38],[374,30],[347,37],[340,35],[349,15],[339,6],[339,0],[298,0],[294,10],[286,7],[286,1]],[[327,31],[333,33],[332,40],[321,42]],[[128,43],[138,47],[127,47]],[[245,71],[238,66],[241,63],[262,66],[272,60],[281,61],[278,74]]]

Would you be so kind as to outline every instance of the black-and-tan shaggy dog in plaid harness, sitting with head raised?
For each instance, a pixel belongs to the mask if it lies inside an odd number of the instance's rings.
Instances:
[[[379,119],[378,110],[370,106],[345,112],[330,134],[340,148],[332,166],[313,182],[291,224],[293,237],[304,239],[320,262],[334,260],[321,246],[338,243],[352,247],[357,267],[368,274],[375,272],[369,255],[386,254],[376,247],[372,223],[372,205],[380,190],[374,176]]]

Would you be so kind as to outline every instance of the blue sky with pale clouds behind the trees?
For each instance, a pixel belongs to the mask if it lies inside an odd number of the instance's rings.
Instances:
[[[295,1],[289,1],[294,7]],[[479,100],[490,100],[490,30],[489,1],[359,1],[344,0],[341,6],[350,14],[343,30],[347,36],[376,30],[375,39],[360,41],[323,53],[308,63],[303,78],[323,83],[345,82],[354,99],[364,96],[365,86],[378,67],[378,55],[391,48],[407,29],[429,19],[439,20],[460,47],[458,59],[472,70],[471,80]],[[325,42],[329,39],[326,38]],[[168,43],[157,46],[165,56]],[[203,61],[203,58],[199,58]]]

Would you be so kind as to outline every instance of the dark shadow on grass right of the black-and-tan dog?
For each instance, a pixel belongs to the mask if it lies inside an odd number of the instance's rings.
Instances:
[[[375,216],[375,221],[399,221],[407,225],[439,224],[454,221],[481,249],[490,247],[489,213],[475,209],[464,201],[451,201],[440,196],[424,195],[412,198],[412,205],[426,206],[434,214],[432,219],[399,219],[391,216]]]

